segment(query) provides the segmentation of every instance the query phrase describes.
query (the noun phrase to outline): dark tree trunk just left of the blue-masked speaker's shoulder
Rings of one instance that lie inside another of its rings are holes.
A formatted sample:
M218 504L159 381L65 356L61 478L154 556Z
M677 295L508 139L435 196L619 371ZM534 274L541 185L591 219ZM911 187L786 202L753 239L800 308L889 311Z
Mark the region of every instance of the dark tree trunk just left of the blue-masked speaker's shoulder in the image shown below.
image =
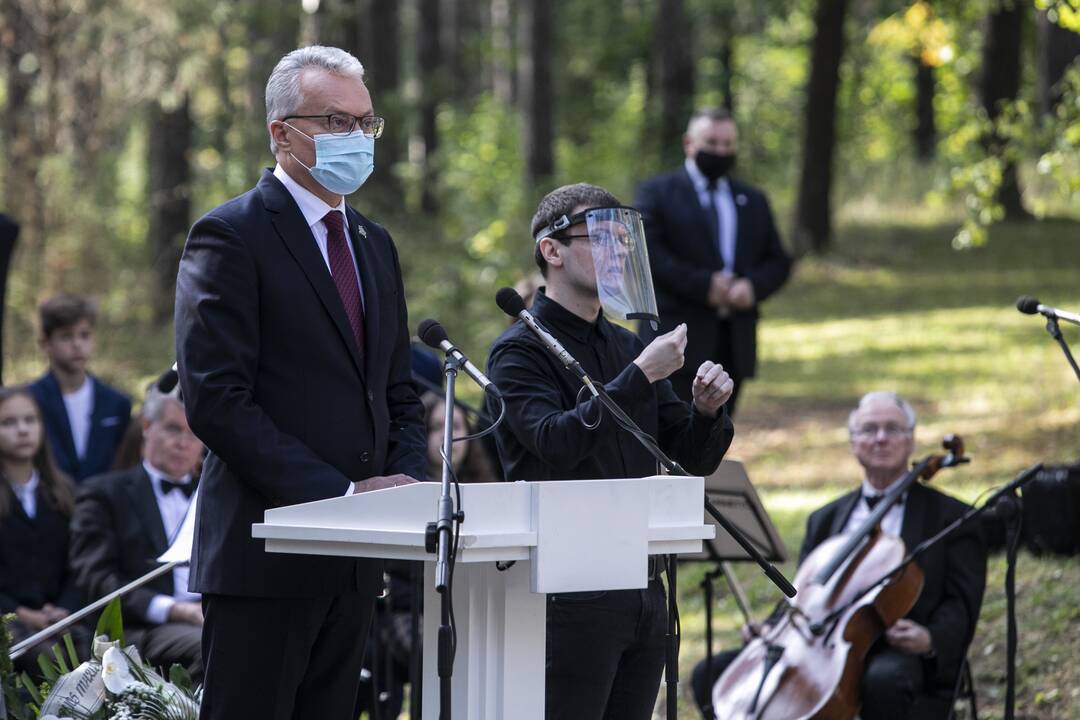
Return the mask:
M149 117L149 247L158 277L153 294L153 317L167 323L173 317L176 270L184 240L191 223L191 148L193 122L188 98L173 109L153 103Z

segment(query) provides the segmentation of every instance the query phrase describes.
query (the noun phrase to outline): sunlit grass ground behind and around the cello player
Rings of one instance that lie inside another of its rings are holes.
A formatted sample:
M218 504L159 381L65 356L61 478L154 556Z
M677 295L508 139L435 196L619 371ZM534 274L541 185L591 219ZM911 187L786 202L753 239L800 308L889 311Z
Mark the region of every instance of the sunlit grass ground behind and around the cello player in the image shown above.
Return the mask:
M914 403L917 457L945 433L964 437L972 463L934 483L968 501L1035 462L1080 459L1080 384L1043 323L1014 308L1020 295L1080 307L1080 226L1001 227L963 253L949 237L945 227L849 225L765 305L764 362L740 402L729 457L746 464L793 553L807 515L860 477L845 423L869 390ZM1064 330L1080 351L1080 331ZM794 574L793 562L782 569ZM703 572L680 573L684 680L704 654ZM764 616L778 592L756 568L737 572ZM991 556L970 652L980 717L991 719L1004 697L1003 580L1004 559ZM1016 585L1016 717L1080 719L1080 560L1024 553ZM715 611L718 644L731 648L742 619L728 597ZM684 697L679 718L696 717Z

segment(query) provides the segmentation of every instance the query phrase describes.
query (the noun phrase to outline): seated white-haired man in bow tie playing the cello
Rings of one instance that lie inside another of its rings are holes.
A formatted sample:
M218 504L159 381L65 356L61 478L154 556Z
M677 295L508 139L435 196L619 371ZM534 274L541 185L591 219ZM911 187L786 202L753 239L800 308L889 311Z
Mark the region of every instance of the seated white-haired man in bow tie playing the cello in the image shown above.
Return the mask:
M915 447L915 410L895 393L867 393L848 418L848 433L851 452L863 467L862 481L810 515L799 562L828 538L854 531L901 481ZM881 531L899 535L910 551L968 510L959 500L916 483L881 518ZM924 575L918 601L886 630L867 657L863 720L912 718L920 694L950 692L974 635L986 587L986 549L978 531L961 529L917 562ZM713 678L704 677L704 663L694 669L694 697L705 718L712 717L716 679L735 654L714 658Z

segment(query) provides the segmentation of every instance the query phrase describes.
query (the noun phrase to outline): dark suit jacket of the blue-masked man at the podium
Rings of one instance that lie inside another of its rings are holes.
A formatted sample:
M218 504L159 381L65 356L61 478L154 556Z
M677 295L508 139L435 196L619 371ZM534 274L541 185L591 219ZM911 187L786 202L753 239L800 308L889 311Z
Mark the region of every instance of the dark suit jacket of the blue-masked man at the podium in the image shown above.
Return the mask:
M364 296L363 355L315 240L266 172L188 235L176 357L203 466L191 589L255 597L376 593L381 565L272 554L267 508L341 497L351 481L424 477L423 406L410 378L397 252L348 209Z

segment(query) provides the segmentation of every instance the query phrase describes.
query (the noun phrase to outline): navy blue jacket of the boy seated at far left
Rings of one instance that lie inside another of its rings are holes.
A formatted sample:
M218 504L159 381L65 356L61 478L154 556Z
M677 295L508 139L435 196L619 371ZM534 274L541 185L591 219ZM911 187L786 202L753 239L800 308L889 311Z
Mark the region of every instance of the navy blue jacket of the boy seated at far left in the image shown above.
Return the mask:
M82 460L76 453L71 423L64 405L59 382L52 372L46 372L29 385L49 434L49 445L56 464L76 483L91 475L100 475L112 470L117 448L124 437L132 417L132 402L112 388L91 378L94 383L94 410L90 417L90 437L86 438L86 457Z

